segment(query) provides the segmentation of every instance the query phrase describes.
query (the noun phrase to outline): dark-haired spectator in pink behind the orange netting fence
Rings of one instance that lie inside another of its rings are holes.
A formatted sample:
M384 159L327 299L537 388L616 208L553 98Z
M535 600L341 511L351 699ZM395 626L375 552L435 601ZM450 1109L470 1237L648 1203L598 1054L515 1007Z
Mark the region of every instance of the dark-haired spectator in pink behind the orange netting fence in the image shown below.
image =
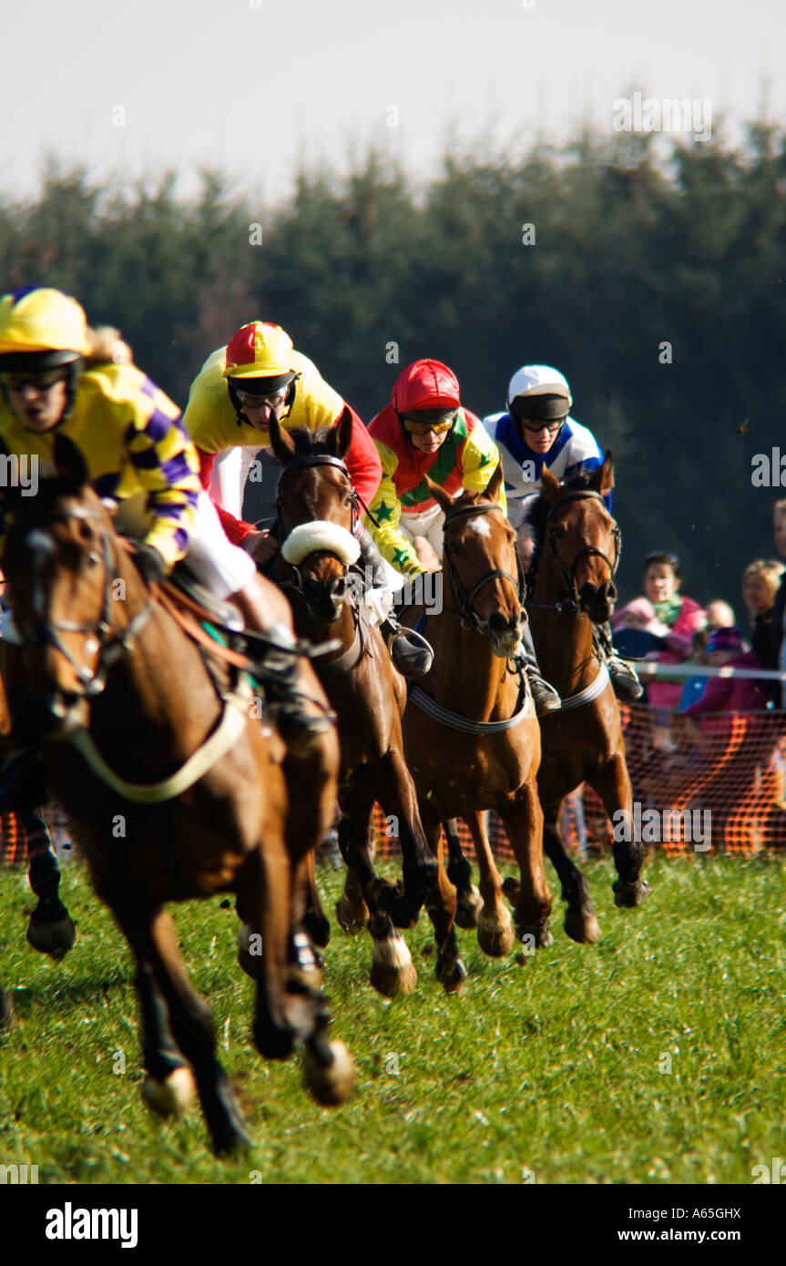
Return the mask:
M706 624L699 603L680 594L681 584L682 568L676 555L652 553L644 560L647 596L628 603L611 618L611 627L618 632L635 629L649 633L653 644L638 653L647 653L658 663L682 663L690 658L692 637ZM637 652L629 649L628 653ZM656 708L678 708L681 695L681 681L657 679L647 686L648 701Z

